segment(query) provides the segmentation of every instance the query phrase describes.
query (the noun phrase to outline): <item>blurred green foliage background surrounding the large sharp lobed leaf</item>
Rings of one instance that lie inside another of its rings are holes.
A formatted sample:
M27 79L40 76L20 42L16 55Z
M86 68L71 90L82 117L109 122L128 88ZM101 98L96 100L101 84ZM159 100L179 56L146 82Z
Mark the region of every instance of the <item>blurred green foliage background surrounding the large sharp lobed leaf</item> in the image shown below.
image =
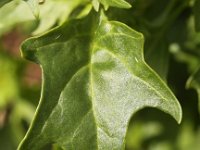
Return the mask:
M197 6L200 2L128 2L132 4L131 9L109 8L106 14L110 20L124 22L144 34L145 59L180 100L183 121L177 125L168 115L146 108L130 121L126 149L199 150L198 95L185 87L188 82L188 87L196 88L198 93L200 90L197 71L200 67L200 33L197 32L200 19L195 20L200 16L200 6ZM76 0L76 3L48 0L39 6L37 19L29 6L20 0L13 0L0 9L0 150L16 149L39 100L40 70L19 57L19 44L13 41L22 41L62 24L77 12L84 11L83 4L89 5L88 0ZM54 145L53 149L59 147Z

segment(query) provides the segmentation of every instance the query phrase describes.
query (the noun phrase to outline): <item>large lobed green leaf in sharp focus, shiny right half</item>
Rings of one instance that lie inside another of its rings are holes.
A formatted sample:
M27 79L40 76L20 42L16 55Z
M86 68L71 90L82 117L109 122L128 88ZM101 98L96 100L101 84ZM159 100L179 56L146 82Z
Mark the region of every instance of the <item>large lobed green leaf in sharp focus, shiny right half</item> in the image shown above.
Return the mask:
M95 12L27 40L22 54L42 66L43 85L19 150L52 143L67 150L124 149L129 120L144 107L180 123L181 107L145 63L143 43L141 33Z

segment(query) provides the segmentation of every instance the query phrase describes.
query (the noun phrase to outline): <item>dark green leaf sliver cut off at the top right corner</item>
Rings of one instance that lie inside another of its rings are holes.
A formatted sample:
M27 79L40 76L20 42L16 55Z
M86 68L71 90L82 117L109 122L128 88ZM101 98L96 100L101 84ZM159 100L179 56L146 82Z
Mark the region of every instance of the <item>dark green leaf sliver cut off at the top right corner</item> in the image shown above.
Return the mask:
M195 29L196 31L200 31L200 0L195 0L194 4L194 17L195 17Z

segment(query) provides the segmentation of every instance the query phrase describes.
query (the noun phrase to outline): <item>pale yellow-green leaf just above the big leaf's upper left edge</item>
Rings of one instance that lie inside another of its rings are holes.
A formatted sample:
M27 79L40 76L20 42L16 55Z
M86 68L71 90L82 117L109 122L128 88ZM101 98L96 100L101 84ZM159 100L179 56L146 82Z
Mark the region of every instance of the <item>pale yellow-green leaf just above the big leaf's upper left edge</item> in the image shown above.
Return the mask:
M79 5L85 4L87 0L48 0L40 6L40 22L34 34L40 34L54 25L64 23L70 13Z

